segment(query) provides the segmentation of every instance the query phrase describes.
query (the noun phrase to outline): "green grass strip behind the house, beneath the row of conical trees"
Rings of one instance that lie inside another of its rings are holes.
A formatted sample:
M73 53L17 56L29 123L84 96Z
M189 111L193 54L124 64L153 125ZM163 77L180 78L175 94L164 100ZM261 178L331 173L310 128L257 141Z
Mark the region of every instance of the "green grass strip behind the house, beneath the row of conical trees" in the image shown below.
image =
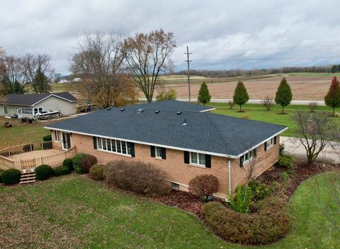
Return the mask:
M272 124L278 124L278 125L285 125L288 127L288 130L283 132L283 136L287 137L295 137L297 125L295 125L293 121L293 115L296 110L303 110L303 111L309 111L309 108L306 105L288 105L285 107L285 113L286 115L279 114L281 112L281 107L279 105L273 106L273 108L270 111L267 111L265 108L263 108L262 105L259 104L246 104L242 105L242 110L244 112L238 112L239 106L234 105L234 108L232 110L229 109L229 105L227 103L208 103L209 106L213 106L216 108L214 110L214 113L222 114L222 115L229 115L233 117L244 117L249 118L250 120L257 120L262 122L268 122ZM331 114L332 110L331 108L327 106L319 106L317 108L317 111L325 111L329 112ZM336 122L340 125L340 118L335 118Z

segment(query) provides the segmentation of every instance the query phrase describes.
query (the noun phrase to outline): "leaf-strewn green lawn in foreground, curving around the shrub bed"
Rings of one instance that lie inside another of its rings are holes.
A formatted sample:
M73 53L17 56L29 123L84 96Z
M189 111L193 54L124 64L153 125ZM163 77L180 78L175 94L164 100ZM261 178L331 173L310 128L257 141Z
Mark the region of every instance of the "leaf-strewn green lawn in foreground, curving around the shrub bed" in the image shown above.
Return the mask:
M324 177L317 176L322 192ZM307 180L291 199L294 219L288 236L266 248L339 245L340 234L329 234L327 219L319 213L313 184ZM79 175L0 187L0 199L0 248L246 248L215 237L187 212Z

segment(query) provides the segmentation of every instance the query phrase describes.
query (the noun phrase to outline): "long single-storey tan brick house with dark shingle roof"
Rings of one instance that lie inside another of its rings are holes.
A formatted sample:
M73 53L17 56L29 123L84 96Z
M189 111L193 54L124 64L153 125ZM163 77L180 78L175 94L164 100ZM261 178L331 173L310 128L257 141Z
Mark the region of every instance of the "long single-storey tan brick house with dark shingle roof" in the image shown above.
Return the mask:
M47 125L55 149L76 147L99 163L125 159L152 163L174 188L188 190L202 174L220 180L219 197L245 182L255 148L263 158L254 175L278 160L279 134L287 127L212 114L203 105L176 100L108 108Z

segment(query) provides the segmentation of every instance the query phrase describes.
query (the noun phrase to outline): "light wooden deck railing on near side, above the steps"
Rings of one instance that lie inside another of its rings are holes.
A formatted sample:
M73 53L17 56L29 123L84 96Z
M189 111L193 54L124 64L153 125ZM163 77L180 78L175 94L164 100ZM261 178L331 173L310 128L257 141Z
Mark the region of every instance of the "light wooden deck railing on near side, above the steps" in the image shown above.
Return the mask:
M66 158L72 158L76 154L76 148L72 147L68 151L62 151L58 154L50 156L41 156L39 158L32 158L26 160L13 160L0 156L0 168L6 170L8 168L16 168L18 170L30 170L36 168L42 164L47 164L51 167L61 166L62 162Z

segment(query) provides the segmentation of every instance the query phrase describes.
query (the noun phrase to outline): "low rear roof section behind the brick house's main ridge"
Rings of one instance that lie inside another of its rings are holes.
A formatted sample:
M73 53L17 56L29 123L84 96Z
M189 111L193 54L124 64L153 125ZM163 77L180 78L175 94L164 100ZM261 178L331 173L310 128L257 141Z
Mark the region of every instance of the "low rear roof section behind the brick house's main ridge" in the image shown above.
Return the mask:
M210 106L197 105L193 103L178 101L178 100L166 100L166 101L156 101L152 103L141 103L138 105L130 105L127 108L143 108L150 110L176 110L176 111L189 111L189 112L204 112L207 110L213 110Z

